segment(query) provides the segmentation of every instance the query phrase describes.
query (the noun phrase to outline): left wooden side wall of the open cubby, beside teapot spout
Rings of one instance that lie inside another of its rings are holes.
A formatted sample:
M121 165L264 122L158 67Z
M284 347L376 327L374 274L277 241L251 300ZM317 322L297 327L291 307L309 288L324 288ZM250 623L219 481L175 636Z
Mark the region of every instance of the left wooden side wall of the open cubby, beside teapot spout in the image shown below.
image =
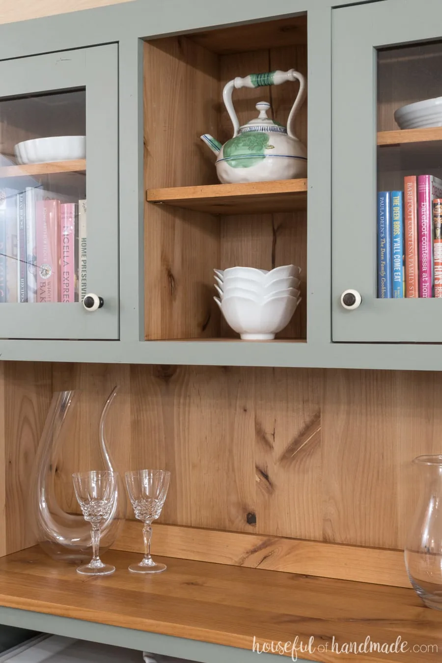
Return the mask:
M199 135L217 131L217 79L217 56L186 37L144 44L145 188L216 182ZM209 284L219 264L218 219L144 205L145 338L217 335Z

